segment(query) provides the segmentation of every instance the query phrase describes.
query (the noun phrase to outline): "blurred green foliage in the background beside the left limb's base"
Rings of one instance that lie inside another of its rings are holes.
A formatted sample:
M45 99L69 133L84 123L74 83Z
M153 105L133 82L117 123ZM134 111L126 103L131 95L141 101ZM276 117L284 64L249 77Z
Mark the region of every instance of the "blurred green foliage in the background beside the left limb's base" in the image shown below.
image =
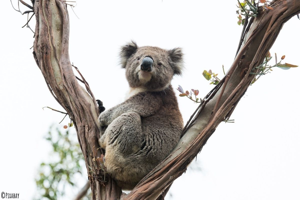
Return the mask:
M85 178L87 180L87 176L82 174L86 170L85 161L76 133L71 133L70 130L61 132L58 128L52 131L50 128L46 140L51 144L52 150L45 158L47 162L42 162L38 170L35 179L37 185L35 199L66 199L66 191L76 196L81 189L78 188L76 181ZM89 198L86 196L83 199Z

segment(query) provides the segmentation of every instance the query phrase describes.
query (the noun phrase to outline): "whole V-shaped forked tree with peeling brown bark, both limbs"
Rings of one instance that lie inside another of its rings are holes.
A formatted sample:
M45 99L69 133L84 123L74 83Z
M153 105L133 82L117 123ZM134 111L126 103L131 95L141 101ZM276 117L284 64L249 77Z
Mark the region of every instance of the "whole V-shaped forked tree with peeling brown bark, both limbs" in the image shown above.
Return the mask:
M183 131L177 147L122 199L161 199L172 182L182 175L201 151L217 125L228 118L255 75L251 70L262 63L283 24L300 12L299 0L274 0L273 10L265 10L253 20L244 43L226 76L203 99ZM69 59L69 16L67 4L60 0L35 0L34 58L53 97L70 115L85 157L93 199L120 199L122 190L107 178L97 159L98 106L88 83L86 90L73 73ZM250 23L249 23L250 24Z

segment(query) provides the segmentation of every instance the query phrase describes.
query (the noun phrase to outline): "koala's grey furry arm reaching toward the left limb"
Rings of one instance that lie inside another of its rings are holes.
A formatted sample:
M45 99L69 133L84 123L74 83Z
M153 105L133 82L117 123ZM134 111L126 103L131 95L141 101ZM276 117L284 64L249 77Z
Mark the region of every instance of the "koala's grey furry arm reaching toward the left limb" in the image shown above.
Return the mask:
M151 93L140 93L123 103L114 106L99 115L101 126L109 125L114 119L126 112L137 112L142 117L147 117L156 113L162 106L162 98Z

